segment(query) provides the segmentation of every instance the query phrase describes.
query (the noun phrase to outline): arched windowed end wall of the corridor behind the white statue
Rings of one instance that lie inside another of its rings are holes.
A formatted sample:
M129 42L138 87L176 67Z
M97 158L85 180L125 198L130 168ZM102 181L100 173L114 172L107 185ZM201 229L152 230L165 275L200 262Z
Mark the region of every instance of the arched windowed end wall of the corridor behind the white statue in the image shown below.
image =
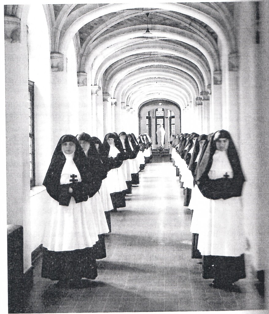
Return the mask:
M167 99L152 99L141 104L138 110L139 134L148 133L152 149L157 149L157 126L165 129L164 149L169 149L171 133L181 133L181 109L178 104Z

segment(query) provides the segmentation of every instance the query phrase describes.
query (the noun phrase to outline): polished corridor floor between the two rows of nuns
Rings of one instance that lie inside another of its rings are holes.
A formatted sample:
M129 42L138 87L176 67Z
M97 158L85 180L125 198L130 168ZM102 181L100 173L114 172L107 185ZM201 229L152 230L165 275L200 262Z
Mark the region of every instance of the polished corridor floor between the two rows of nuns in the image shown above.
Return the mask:
M167 160L167 159L165 159ZM161 161L161 160L159 160ZM154 162L140 173L126 207L111 214L107 258L84 289L60 289L35 269L27 313L258 310L263 299L253 278L238 292L209 287L200 260L191 259L191 215L183 206L176 169Z

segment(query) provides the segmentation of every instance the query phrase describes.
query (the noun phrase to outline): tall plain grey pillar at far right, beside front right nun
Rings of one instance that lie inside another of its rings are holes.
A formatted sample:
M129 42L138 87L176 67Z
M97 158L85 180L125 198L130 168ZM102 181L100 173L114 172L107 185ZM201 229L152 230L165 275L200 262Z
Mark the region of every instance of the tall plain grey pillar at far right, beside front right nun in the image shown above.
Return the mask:
M255 3L236 3L235 10L239 23L238 46L240 55L239 152L246 179L242 193L242 217L244 218L243 223L249 241L249 249L245 257L247 273L250 277L251 268L254 268L256 271L263 269L264 249L267 248L267 244L261 232L264 226L265 211L267 217L267 206L264 208L265 203L261 203L266 202L261 189L262 186L266 184L268 190L268 178L266 178L266 182L262 182L262 172L266 167L264 167L264 162L261 161L261 152L263 149L261 149L259 144L264 144L267 140L264 138L265 134L263 134L261 138L259 133L262 125L259 119L262 113L259 112L260 74L258 69L259 47L256 44L256 32L254 27L256 16ZM266 76L267 75L268 74L266 74Z

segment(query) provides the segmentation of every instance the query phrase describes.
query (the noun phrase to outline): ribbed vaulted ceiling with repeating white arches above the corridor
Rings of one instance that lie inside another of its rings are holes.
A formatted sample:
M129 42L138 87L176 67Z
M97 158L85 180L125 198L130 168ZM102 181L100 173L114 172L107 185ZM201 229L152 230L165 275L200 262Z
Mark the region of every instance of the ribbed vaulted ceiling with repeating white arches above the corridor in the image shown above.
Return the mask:
M65 53L73 39L78 72L134 108L153 98L183 108L194 103L210 92L214 73L221 83L227 55L237 51L231 2L54 4L53 10L54 51Z

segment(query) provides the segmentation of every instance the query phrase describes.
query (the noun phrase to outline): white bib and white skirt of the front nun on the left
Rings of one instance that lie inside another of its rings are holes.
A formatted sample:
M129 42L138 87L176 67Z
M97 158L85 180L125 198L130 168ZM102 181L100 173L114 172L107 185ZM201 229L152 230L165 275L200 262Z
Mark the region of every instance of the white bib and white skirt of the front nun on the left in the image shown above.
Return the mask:
M66 163L61 173L61 184L70 183L70 175L81 176L73 161L73 154L66 156ZM42 244L50 251L72 251L92 247L98 241L98 228L95 224L94 208L89 203L76 203L71 197L69 206L59 205L50 198L45 213Z

